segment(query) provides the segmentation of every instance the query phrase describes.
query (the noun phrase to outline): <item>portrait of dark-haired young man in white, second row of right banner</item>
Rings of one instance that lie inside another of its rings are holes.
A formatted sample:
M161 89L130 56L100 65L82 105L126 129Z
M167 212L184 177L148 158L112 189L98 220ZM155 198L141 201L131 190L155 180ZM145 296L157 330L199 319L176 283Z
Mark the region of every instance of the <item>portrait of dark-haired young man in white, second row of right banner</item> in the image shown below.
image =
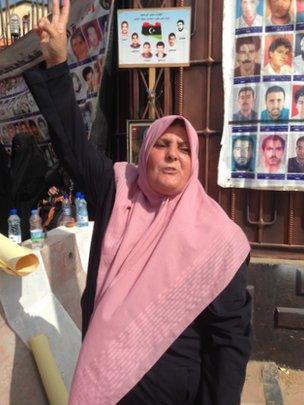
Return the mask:
M290 75L292 46L286 37L274 37L268 48L264 75Z

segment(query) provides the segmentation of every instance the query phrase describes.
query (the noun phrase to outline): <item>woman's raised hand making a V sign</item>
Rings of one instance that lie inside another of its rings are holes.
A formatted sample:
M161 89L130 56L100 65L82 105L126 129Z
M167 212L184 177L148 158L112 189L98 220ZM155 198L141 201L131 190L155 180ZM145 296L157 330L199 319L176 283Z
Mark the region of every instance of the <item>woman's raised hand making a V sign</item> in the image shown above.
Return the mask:
M70 0L63 1L59 8L59 0L53 0L52 21L42 17L35 28L39 35L41 51L46 61L46 66L52 67L67 59L66 26L69 19Z

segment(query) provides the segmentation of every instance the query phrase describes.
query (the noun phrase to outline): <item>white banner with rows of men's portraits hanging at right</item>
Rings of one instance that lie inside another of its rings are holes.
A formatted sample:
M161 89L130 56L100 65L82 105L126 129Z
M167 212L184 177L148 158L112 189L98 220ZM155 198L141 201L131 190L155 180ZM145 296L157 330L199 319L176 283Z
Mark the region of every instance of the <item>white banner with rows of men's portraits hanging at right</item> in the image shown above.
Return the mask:
M218 184L304 190L304 2L226 0L224 7Z

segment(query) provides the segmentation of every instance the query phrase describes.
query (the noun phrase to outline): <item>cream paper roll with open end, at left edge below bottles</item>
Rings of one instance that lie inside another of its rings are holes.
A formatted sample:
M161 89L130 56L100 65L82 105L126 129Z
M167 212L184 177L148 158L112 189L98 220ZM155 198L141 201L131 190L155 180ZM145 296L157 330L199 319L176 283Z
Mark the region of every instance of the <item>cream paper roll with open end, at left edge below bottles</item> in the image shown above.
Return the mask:
M0 268L14 276L26 276L37 270L38 257L30 250L0 233Z

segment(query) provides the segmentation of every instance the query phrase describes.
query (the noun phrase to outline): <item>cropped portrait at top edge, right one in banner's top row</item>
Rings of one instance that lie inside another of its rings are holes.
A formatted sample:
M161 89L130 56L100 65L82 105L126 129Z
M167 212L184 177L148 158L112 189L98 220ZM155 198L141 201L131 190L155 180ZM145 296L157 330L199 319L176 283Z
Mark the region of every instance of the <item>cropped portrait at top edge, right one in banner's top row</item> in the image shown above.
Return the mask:
M265 25L292 24L292 0L268 0L269 13Z

